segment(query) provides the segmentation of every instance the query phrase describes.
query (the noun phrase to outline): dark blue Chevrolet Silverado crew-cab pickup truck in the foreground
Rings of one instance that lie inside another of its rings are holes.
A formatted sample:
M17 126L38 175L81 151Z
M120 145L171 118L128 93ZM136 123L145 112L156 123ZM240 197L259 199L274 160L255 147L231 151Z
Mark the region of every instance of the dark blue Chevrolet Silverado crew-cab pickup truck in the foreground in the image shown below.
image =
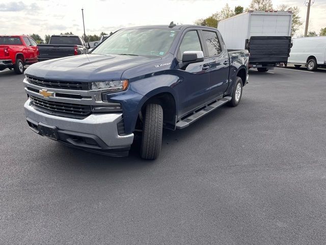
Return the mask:
M26 119L40 135L111 156L127 156L141 132L141 157L155 159L162 128L239 104L248 60L248 51L228 52L214 28L121 29L90 54L28 67Z

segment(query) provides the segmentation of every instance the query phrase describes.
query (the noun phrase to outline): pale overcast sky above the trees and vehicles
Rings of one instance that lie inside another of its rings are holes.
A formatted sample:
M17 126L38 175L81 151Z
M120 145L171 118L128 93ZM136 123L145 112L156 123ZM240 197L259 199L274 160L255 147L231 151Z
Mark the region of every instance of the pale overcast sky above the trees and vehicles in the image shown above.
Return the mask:
M304 0L272 0L274 8L289 4L301 8L306 18ZM123 27L148 24L193 24L220 11L226 3L234 9L248 7L250 0L0 0L0 35L73 32L83 34L82 7L86 34L110 33ZM309 30L319 33L326 27L326 0L315 0L310 12ZM305 25L297 32L304 32Z

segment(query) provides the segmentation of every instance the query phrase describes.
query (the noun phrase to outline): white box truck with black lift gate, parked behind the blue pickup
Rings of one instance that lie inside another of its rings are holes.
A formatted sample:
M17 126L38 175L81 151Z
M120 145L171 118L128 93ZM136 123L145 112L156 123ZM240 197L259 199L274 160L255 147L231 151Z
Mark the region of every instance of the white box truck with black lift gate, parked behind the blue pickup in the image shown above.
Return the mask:
M221 20L218 29L228 50L248 50L249 66L264 72L287 64L292 16L292 12L249 11Z

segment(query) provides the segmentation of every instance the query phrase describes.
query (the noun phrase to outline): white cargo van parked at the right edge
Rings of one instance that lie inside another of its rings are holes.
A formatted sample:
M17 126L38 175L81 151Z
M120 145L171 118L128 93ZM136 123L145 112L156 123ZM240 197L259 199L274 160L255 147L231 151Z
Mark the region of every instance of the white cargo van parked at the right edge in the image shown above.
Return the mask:
M288 63L295 67L306 65L308 70L326 66L326 36L293 39Z

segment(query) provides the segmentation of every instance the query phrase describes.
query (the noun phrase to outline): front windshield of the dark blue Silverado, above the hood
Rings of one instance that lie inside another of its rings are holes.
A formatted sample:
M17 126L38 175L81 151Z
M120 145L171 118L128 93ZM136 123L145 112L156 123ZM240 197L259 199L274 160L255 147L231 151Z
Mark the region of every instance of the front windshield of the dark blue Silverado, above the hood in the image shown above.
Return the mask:
M106 38L92 54L164 56L177 32L165 29L121 30Z

